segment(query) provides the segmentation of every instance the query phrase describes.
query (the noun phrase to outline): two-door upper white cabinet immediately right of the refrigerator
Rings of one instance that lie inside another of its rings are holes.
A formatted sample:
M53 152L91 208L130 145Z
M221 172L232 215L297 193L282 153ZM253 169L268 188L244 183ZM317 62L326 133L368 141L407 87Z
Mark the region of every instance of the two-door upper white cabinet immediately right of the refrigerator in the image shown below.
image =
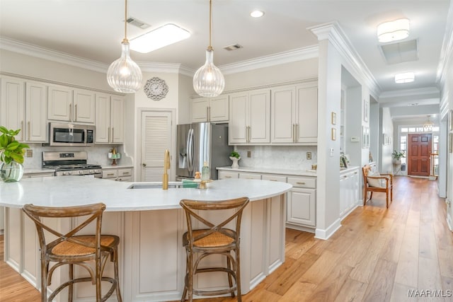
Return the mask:
M232 93L229 144L270 143L270 90Z

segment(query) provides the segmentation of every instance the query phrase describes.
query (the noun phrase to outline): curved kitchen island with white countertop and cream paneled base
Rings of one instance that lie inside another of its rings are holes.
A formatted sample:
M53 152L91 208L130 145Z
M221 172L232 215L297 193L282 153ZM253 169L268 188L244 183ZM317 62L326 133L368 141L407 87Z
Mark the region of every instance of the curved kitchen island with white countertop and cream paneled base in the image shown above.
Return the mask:
M141 182L139 185L152 185ZM112 182L84 176L30 178L0 183L5 209L4 260L31 284L40 284L39 248L35 226L24 216L23 204L64 207L103 202L103 233L120 236L120 282L124 301L175 301L183 290L185 232L180 199L221 200L246 196L241 228L241 285L253 289L285 261L286 192L291 185L268 180L216 180L206 190L137 188L131 182ZM60 221L62 231L70 221ZM107 272L111 274L111 267ZM67 273L55 274L55 284ZM197 286L224 284L224 276L197 279ZM55 288L55 284L50 289ZM91 286L78 284L77 300L93 296ZM61 297L62 301L64 296ZM113 298L115 301L115 298Z

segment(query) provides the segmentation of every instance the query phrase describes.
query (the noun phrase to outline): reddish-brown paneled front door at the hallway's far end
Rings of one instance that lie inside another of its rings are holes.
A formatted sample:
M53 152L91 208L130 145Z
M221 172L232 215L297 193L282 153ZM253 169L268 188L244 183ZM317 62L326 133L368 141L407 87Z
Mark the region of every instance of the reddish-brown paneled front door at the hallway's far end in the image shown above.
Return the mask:
M408 134L408 175L430 175L431 148L431 134Z

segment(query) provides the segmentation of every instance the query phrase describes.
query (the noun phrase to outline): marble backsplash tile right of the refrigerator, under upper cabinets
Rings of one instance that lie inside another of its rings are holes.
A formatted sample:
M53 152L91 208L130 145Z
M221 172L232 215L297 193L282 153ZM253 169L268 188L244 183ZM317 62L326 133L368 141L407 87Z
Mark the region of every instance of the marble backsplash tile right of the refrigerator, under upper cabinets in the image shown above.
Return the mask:
M236 146L239 166L254 168L311 169L316 163L316 146ZM251 151L251 157L247 157ZM306 153L311 152L311 159Z

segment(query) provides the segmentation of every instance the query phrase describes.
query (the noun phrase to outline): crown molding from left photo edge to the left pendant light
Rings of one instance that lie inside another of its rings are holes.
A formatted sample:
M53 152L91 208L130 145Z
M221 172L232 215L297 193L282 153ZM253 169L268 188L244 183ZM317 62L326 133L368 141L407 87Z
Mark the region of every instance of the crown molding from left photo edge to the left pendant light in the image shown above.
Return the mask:
M10 52L17 52L19 54L26 54L30 57L38 57L40 59L46 59L52 62L68 64L83 69L98 71L103 74L105 74L108 69L108 66L106 64L100 62L71 56L70 54L64 52L57 52L55 50L50 50L44 47L26 44L16 40L8 39L6 37L0 37L0 49L8 50Z

